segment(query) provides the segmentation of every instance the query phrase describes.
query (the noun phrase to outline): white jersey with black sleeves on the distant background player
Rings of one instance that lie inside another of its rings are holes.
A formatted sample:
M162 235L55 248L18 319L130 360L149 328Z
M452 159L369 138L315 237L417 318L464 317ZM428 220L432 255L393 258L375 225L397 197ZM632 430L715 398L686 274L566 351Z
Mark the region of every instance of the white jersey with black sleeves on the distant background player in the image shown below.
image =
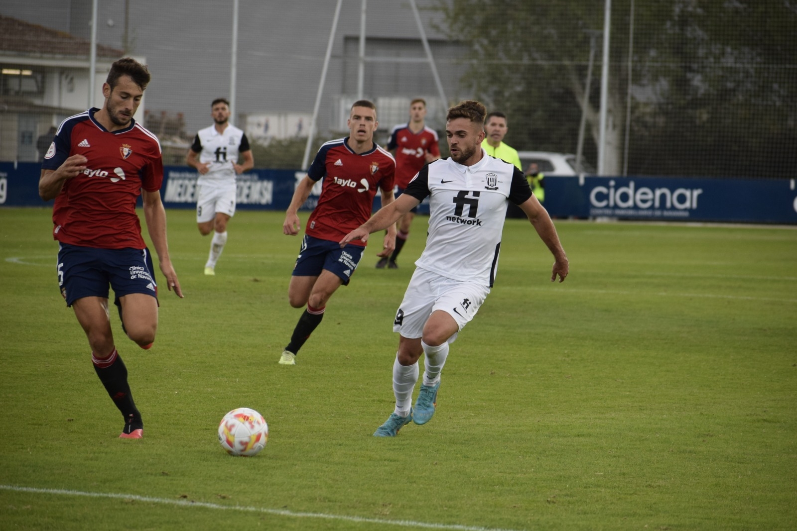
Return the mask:
M200 175L200 185L230 185L235 183L234 163L238 155L249 151L249 140L238 127L227 125L223 133L215 126L200 129L191 145L191 150L199 154L199 162L208 162L209 170Z

